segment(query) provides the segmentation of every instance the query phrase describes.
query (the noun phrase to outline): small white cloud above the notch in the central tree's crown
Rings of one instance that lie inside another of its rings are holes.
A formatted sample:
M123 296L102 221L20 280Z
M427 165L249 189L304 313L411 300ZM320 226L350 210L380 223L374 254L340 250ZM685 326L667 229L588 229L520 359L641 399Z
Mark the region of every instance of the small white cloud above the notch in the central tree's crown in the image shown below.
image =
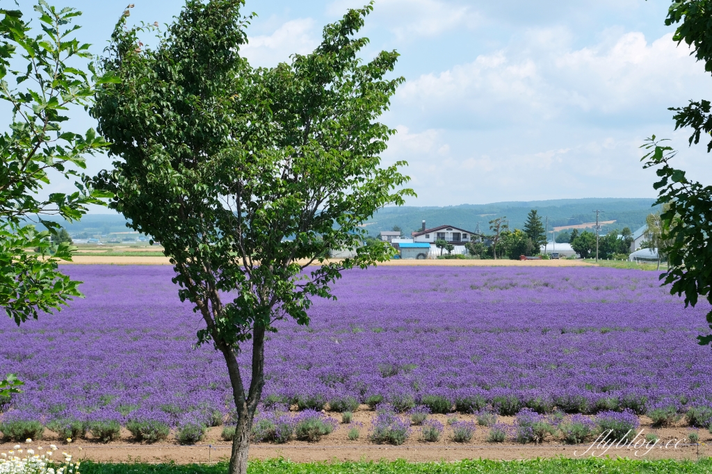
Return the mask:
M287 21L271 35L250 36L240 52L253 66L271 67L289 62L290 55L308 54L319 45L315 25L310 18Z

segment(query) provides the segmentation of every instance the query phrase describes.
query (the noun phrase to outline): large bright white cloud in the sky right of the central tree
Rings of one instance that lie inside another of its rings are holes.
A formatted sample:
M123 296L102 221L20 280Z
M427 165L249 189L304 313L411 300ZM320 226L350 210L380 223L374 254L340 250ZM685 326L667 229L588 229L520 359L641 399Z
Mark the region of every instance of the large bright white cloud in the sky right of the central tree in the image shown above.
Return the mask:
M567 46L567 36L560 30L530 31L523 43L408 81L397 100L483 121L553 120L589 112L641 115L686 102L691 89L703 90L709 80L670 34L648 43L642 33L623 33L577 50Z

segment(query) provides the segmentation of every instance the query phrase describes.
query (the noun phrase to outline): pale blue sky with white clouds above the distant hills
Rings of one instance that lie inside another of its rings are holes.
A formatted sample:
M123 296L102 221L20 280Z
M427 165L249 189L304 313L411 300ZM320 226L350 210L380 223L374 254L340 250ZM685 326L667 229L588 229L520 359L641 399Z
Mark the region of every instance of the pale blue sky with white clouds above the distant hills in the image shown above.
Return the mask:
M183 4L132 2L135 23L169 22ZM28 13L31 3L21 0ZM66 4L84 12L80 37L101 53L127 0ZM242 53L261 66L308 53L326 23L363 4L248 0L246 13L258 16ZM710 98L712 84L686 46L671 40L669 4L377 0L362 31L371 40L364 56L402 55L396 73L406 83L382 117L399 132L383 158L409 162L419 197L408 204L654 196L654 172L639 162L651 134L673 139L691 177L712 181L711 157L701 145L687 147L667 110ZM89 117L76 121L91 126ZM90 171L107 166L93 159ZM59 189L70 186L51 187Z

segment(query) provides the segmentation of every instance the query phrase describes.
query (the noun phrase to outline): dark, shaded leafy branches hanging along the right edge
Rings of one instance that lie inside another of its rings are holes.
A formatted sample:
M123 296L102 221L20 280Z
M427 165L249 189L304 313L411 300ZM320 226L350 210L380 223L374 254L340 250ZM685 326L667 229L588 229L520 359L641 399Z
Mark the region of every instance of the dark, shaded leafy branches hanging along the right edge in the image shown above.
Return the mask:
M712 73L712 0L674 1L665 20L667 26L677 25L673 40L685 42L692 54ZM690 127L689 144L699 143L701 135L712 132L711 102L690 100L685 107L674 110L675 128ZM695 306L699 297L712 304L712 186L689 179L686 172L671 166L675 150L666 146L655 135L642 145L647 150L642 162L644 168L656 167L660 178L653 187L658 191L656 204L668 204L660 214L661 240L669 241L665 251L668 270L664 283L670 293L685 297L685 305ZM707 152L712 150L712 139ZM712 328L712 311L706 316ZM712 335L698 337L700 344L711 344Z

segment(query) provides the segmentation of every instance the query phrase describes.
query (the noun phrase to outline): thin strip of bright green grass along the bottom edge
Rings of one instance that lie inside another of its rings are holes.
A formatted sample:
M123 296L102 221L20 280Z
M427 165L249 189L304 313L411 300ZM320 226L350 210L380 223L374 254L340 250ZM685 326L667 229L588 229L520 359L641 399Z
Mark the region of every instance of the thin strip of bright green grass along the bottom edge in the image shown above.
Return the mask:
M213 465L177 464L103 464L82 463L84 474L222 474L227 472L225 463ZM292 463L276 459L253 461L249 474L464 474L464 473L710 473L712 458L699 461L638 460L638 459L569 459L548 458L525 461L463 460L456 463L408 463L394 462L335 462Z

